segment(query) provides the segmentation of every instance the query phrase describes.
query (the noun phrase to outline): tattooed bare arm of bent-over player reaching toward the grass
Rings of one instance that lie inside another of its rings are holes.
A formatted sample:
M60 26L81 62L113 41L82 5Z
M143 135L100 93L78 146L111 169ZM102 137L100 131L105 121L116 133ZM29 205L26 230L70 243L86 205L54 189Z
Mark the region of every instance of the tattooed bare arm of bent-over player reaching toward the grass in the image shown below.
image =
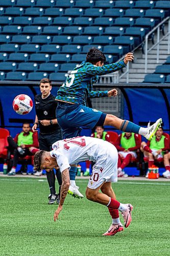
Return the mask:
M58 216L60 214L60 211L63 208L64 200L68 193L69 184L70 184L69 169L67 168L67 169L63 170L63 172L61 173L61 176L62 176L62 185L61 185L61 191L60 191L60 204L59 204L57 210L55 211L54 221L56 221L56 219L58 220Z

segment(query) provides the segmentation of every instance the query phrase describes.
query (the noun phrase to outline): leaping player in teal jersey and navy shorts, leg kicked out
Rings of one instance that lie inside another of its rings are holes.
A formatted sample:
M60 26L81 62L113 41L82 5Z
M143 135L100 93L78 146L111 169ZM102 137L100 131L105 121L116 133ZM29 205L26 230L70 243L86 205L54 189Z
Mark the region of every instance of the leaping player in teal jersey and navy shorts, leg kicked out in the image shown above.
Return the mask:
M151 140L155 135L162 119L158 119L148 128L140 127L128 120L105 114L101 111L90 109L86 106L87 98L111 97L117 95L117 90L92 91L92 84L98 81L98 76L113 73L126 67L128 61L134 59L133 53L125 55L124 60L109 65L104 65L105 55L96 48L91 48L78 67L71 71L66 81L60 87L56 100L57 121L62 128L64 138L79 135L81 127L92 129L94 126L111 125L116 129L143 135ZM70 185L75 186L76 167L70 169Z

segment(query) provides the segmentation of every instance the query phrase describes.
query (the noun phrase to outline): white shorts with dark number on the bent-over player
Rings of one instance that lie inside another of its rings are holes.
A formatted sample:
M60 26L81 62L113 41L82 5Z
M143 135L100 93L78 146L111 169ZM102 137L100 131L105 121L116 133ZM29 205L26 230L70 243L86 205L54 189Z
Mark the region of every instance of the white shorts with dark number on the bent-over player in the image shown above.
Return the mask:
M117 150L115 146L110 144L108 146L108 153L98 157L98 160L93 165L87 187L96 189L103 182L117 182L117 160Z

